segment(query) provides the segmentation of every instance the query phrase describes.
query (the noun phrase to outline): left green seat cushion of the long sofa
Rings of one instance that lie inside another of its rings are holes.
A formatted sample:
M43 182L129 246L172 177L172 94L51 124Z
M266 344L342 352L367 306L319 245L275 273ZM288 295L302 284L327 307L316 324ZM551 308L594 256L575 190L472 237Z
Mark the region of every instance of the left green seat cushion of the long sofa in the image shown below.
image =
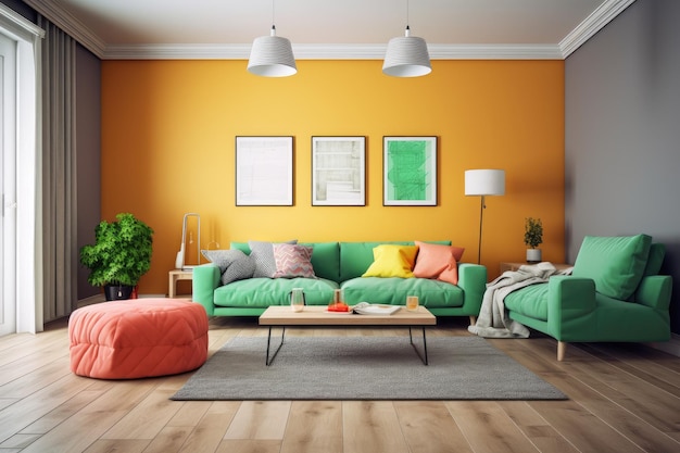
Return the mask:
M338 284L325 278L249 278L215 289L216 306L267 307L290 304L290 291L302 288L307 305L327 305Z

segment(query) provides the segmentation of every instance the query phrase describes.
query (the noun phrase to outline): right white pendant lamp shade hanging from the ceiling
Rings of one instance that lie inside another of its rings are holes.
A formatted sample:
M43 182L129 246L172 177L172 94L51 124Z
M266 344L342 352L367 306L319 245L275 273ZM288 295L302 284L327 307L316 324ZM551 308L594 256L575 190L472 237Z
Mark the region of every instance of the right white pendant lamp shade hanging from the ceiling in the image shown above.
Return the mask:
M392 38L387 45L382 72L394 77L419 77L432 72L425 39L410 36Z

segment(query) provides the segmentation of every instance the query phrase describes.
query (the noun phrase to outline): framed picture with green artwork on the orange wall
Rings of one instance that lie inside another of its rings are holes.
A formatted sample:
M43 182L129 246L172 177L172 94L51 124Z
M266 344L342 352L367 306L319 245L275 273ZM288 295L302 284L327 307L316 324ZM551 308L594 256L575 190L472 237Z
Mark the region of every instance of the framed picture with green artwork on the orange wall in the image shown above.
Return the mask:
M437 205L437 137L383 137L382 204Z

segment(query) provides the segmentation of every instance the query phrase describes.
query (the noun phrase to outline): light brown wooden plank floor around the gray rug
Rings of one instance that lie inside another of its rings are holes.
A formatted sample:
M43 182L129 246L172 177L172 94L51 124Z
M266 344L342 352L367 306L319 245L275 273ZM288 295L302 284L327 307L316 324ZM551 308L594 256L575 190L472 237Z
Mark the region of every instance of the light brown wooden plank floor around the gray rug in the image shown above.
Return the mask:
M429 332L468 335L464 319ZM262 335L256 319L213 319L210 353L232 337ZM0 453L680 452L680 358L642 345L580 344L561 363L551 338L489 341L570 399L175 402L168 398L190 373L130 381L73 375L66 323L58 322L36 336L0 338Z

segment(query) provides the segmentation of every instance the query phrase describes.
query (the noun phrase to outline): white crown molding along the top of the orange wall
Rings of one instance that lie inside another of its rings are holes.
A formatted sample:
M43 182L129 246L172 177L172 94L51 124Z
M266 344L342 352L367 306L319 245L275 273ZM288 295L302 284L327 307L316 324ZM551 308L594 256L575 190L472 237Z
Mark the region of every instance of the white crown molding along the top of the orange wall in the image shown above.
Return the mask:
M251 45L109 46L102 60L248 60ZM557 45L428 45L431 60L562 60ZM293 45L295 60L382 60L386 45Z

